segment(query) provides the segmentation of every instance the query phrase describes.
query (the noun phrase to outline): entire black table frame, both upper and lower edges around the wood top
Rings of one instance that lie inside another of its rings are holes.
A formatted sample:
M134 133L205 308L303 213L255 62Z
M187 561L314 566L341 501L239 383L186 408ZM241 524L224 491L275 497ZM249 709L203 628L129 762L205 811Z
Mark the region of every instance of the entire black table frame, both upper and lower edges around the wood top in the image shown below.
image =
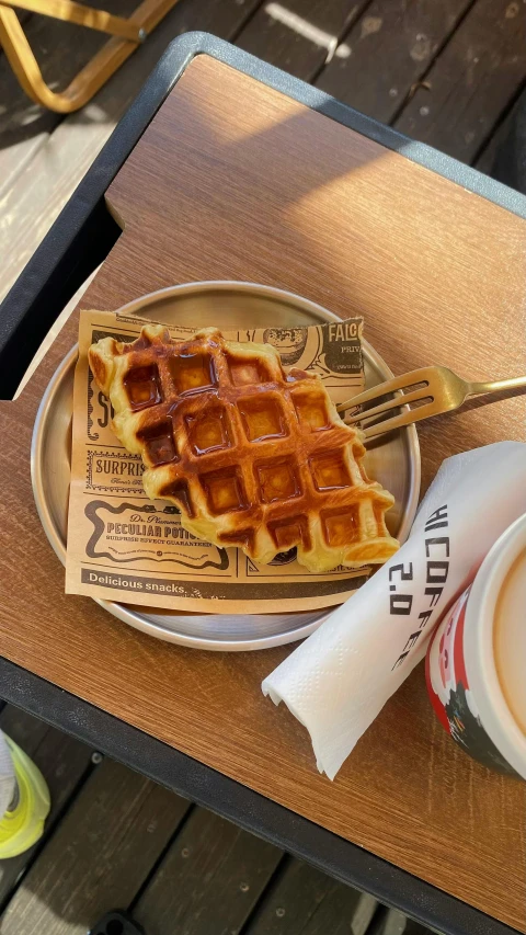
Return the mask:
M55 319L116 241L121 229L106 209L104 194L167 94L199 54L255 78L526 219L526 197L517 192L409 140L222 39L186 33L169 46L2 303L0 398L12 397ZM0 697L444 935L516 932L2 658Z

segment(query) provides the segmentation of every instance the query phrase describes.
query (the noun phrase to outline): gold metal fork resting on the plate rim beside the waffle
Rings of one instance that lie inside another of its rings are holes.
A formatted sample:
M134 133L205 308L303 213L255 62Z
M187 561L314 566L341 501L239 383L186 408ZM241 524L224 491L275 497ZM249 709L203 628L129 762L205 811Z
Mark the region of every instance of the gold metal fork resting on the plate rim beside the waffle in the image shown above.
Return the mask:
M430 415L438 415L458 409L467 399L474 396L485 396L505 389L526 387L526 376L512 377L507 380L495 380L494 383L467 383L447 367L422 367L420 370L411 370L392 380L378 384L371 389L361 392L359 396L347 399L336 406L347 425L361 424L366 438L382 435L392 429L402 425L411 425ZM382 399L389 394L396 394L390 399ZM365 403L379 400L377 406L363 409ZM413 403L414 408L409 408ZM378 420L378 417L396 409L403 411L390 419ZM407 407L407 408L405 408ZM346 410L350 414L343 415ZM359 411L354 411L359 410ZM370 420L374 420L371 424Z

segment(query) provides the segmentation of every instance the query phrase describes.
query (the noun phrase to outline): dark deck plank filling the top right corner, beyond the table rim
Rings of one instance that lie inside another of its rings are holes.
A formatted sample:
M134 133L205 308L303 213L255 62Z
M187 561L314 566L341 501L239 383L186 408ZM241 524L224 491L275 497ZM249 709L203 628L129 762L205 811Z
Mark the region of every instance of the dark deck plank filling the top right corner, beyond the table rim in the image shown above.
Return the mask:
M478 0L395 126L472 162L526 76L526 4Z

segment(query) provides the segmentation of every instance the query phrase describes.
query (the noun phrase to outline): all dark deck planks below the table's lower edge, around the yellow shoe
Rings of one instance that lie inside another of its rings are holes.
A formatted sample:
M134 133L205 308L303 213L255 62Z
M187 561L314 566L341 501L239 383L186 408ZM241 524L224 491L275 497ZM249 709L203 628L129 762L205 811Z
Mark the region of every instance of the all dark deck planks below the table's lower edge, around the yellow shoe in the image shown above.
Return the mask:
M15 860L0 862L0 903L15 889L2 935L84 935L115 908L147 935L431 935L126 767L91 765L89 748L30 715L7 706L0 727L41 766L53 799L18 890L34 850L15 875Z

